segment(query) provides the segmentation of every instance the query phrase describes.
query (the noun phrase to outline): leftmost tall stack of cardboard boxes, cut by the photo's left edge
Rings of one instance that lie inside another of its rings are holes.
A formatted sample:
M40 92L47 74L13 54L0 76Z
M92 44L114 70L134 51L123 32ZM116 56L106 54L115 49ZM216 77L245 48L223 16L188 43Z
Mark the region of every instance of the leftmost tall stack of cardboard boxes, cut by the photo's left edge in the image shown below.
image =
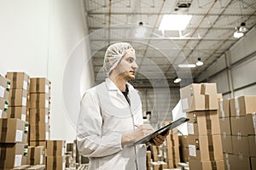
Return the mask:
M28 76L8 72L0 76L0 169L26 165Z

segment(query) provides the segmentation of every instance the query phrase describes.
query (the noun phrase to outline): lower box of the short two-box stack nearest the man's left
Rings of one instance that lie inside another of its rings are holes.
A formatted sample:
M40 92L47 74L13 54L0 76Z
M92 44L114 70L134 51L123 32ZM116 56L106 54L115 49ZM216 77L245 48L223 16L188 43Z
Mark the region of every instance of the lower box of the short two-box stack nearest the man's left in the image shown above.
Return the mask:
M65 169L65 156L46 156L46 169Z

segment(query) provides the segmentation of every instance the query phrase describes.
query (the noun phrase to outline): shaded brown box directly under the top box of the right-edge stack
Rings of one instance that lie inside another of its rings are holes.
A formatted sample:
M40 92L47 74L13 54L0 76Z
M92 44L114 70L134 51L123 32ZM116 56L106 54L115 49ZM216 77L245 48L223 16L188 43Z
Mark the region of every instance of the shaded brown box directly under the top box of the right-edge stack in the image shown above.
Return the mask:
M230 117L231 133L237 136L247 136L246 116Z

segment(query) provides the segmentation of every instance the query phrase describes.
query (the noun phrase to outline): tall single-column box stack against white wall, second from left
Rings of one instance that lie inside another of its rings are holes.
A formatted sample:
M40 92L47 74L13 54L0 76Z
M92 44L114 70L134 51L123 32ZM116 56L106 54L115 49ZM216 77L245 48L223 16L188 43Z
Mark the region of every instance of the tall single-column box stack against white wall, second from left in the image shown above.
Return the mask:
M30 145L44 145L49 139L50 82L46 78L30 80Z

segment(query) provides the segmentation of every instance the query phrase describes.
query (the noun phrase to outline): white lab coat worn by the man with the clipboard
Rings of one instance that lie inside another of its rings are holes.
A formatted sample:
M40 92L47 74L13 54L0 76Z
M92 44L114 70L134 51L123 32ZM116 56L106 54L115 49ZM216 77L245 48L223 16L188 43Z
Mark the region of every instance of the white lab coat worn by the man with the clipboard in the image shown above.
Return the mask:
M115 84L90 88L81 100L77 127L79 152L90 159L90 170L145 170L145 144L122 146L122 134L143 124L142 103L137 90L127 83L131 106Z

